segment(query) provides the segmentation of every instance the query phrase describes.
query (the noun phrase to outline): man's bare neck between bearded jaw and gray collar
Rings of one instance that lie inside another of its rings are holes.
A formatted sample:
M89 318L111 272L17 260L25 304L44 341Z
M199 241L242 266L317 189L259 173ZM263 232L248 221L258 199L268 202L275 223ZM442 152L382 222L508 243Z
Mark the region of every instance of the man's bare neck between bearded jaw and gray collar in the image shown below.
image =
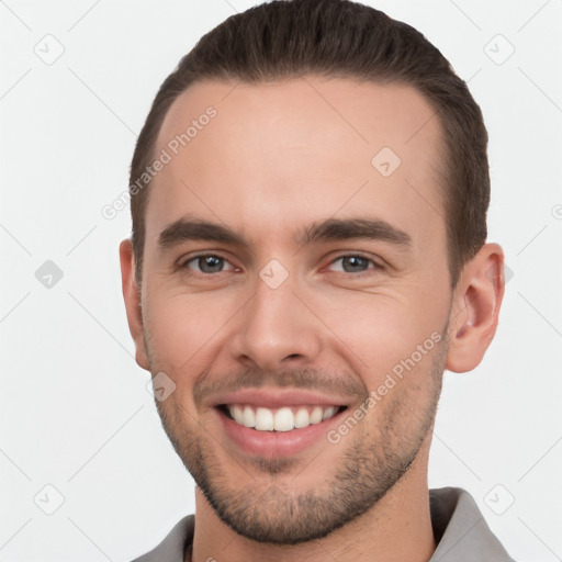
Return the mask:
M403 477L369 512L327 537L293 546L266 544L237 535L195 490L192 562L428 562L436 543L429 513L425 443Z

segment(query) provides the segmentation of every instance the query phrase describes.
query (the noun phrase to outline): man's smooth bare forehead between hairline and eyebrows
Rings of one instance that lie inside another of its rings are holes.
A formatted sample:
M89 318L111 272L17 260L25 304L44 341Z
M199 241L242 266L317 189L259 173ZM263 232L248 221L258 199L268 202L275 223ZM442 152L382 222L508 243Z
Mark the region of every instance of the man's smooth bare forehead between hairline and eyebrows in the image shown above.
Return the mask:
M195 83L158 135L155 156L169 161L150 187L147 239L186 214L249 236L359 212L435 229L442 223L435 117L408 86L314 76Z

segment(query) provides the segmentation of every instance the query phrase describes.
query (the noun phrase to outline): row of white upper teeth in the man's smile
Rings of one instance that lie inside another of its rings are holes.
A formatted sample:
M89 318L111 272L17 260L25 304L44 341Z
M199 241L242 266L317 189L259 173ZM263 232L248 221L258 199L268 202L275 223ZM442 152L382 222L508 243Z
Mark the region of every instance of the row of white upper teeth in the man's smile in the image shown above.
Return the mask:
M228 412L234 420L259 431L290 431L319 424L323 419L334 416L336 406L302 406L269 409L263 407L229 405Z

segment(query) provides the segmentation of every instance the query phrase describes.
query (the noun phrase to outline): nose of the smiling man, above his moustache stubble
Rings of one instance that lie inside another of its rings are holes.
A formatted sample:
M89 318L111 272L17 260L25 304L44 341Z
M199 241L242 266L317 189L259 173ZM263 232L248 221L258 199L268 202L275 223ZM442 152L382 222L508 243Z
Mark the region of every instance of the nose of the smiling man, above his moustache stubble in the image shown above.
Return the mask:
M249 369L279 370L310 366L322 348L322 324L288 280L272 289L261 279L239 311L231 338L233 359Z

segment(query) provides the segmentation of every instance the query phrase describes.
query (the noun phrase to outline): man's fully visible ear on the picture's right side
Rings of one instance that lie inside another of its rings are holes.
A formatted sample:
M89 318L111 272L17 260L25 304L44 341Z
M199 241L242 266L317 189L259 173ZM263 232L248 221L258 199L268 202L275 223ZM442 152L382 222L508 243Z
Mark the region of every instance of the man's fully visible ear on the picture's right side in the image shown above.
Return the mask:
M497 328L504 285L504 252L485 244L465 263L453 291L446 369L467 372L480 364Z

